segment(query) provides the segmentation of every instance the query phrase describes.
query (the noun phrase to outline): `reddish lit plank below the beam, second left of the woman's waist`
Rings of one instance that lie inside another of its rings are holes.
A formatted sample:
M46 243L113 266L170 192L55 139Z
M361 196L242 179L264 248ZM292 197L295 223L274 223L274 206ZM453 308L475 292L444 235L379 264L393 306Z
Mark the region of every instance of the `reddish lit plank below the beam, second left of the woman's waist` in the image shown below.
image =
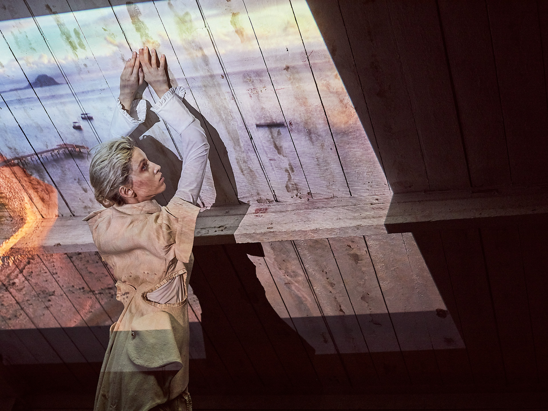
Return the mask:
M39 258L59 284L96 338L106 347L112 319L90 290L66 254L43 254Z

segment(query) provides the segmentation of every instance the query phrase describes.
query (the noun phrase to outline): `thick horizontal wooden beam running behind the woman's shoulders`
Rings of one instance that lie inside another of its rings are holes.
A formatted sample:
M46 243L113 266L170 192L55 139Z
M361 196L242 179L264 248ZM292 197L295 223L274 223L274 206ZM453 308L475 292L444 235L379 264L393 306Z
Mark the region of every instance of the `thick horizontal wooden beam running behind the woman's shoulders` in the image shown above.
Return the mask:
M395 196L241 204L203 210L195 244L350 237L548 221L545 189L403 193ZM95 251L81 217L43 219L8 255Z

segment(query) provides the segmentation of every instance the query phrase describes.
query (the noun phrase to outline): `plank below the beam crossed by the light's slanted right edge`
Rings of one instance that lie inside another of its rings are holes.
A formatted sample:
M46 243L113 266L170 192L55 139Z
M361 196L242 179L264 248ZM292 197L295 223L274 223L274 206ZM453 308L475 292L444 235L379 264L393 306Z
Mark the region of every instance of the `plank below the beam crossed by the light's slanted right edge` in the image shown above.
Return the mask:
M472 372L443 245L438 232L404 233L409 262L425 311L430 340L444 384L465 384Z

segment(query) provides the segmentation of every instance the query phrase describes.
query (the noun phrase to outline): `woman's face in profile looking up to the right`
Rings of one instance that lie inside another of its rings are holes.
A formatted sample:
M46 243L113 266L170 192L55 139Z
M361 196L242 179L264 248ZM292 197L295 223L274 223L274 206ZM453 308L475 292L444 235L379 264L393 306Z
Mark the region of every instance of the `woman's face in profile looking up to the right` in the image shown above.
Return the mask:
M150 200L165 190L165 182L160 172L160 166L149 161L139 147L133 149L131 175L132 187L122 187L120 189L128 204Z

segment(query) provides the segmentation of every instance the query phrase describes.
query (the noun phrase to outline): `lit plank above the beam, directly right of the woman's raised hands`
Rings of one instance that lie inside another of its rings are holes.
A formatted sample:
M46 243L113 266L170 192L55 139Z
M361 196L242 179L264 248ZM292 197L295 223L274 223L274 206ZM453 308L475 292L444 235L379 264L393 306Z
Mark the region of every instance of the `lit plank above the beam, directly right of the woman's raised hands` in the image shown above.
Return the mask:
M207 4L201 5L207 8ZM230 171L229 184L241 201L273 201L267 178L249 138L249 124L243 122L228 73L222 67L218 50L214 49L210 37L212 32L198 5L190 0L177 0L158 2L155 6L174 48L177 63L186 76L192 98L196 99L198 110L208 120L212 150L219 155L218 172L219 166ZM217 24L212 26L218 28Z

